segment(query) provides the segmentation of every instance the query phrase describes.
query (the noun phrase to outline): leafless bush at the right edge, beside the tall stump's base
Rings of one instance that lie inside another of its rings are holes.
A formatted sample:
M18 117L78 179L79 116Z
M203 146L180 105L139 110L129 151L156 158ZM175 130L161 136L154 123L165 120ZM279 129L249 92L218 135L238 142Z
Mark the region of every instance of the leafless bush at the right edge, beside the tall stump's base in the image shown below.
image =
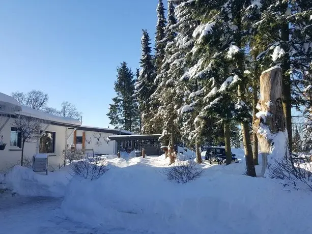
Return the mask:
M312 189L312 165L307 160L278 159L269 167L269 176L273 179L289 181L294 187L302 182Z

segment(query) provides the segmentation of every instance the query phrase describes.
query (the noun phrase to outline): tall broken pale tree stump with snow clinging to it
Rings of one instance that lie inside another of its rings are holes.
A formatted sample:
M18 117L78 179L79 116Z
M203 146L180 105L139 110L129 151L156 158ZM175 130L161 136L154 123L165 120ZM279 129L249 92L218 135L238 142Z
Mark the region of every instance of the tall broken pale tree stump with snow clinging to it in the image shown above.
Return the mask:
M260 101L257 105L259 112L253 122L253 131L257 133L262 153L261 177L264 176L272 160L276 157L284 157L287 152L288 136L281 101L281 84L280 67L272 67L260 76ZM268 162L268 155L270 155L270 162Z

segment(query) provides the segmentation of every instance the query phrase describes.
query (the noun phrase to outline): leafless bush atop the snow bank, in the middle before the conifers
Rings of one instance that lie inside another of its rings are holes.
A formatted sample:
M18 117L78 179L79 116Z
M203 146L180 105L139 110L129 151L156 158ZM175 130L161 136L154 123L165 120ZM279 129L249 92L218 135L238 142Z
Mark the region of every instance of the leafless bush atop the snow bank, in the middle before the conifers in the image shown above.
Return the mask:
M187 183L200 178L204 172L197 166L194 160L178 161L173 166L166 167L162 171L169 181L177 183Z

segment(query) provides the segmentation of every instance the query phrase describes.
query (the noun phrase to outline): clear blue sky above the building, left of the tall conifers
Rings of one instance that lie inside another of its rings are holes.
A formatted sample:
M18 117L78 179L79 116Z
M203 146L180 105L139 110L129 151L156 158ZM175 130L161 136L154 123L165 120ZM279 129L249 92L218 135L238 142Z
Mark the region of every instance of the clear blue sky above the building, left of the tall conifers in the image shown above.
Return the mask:
M109 126L116 67L139 66L141 28L154 39L157 2L3 1L0 92L41 90L48 106L70 101L84 125Z

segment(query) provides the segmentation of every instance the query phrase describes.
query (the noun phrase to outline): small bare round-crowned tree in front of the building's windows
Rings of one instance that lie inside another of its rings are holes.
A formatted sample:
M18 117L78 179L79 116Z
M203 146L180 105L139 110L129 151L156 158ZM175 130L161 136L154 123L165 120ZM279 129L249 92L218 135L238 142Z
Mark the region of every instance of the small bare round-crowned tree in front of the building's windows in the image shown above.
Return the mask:
M21 135L21 166L23 166L24 145L25 142L36 142L40 136L40 122L30 116L17 115L13 123L13 127L17 128Z

